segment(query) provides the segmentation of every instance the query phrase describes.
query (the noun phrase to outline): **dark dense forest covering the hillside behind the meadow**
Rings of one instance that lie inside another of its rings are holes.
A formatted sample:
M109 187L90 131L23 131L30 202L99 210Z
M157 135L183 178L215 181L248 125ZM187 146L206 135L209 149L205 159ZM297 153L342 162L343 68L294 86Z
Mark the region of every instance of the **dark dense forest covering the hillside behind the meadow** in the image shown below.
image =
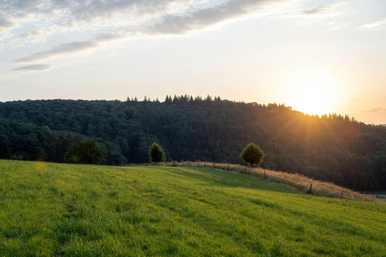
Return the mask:
M386 127L341 115L310 116L278 104L207 96L164 102L26 100L0 102L0 158L65 162L79 138L102 138L108 164L148 161L152 142L167 160L240 163L249 142L269 169L306 174L353 189L386 188Z

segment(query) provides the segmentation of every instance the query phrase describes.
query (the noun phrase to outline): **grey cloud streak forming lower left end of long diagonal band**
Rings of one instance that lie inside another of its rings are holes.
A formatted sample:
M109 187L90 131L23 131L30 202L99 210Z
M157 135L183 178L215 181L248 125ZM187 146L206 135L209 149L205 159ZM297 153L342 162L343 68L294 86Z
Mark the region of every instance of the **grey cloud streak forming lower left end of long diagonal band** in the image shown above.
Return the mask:
M19 58L13 61L13 63L33 63L40 60L50 59L57 56L66 56L76 52L84 51L86 49L94 48L97 43L94 41L82 41L64 43L58 46L52 47L50 50L33 53L30 56Z

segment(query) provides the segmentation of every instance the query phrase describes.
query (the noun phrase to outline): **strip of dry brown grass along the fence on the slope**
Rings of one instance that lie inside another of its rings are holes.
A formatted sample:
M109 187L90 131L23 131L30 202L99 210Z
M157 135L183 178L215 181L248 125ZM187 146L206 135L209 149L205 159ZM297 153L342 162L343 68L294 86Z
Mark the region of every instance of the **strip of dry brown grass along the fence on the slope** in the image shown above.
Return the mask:
M378 200L375 197L369 196L369 195L363 195L361 193L357 193L353 190L343 188L340 186L337 186L330 182L315 180L312 178L309 178L307 176L296 174L296 173L286 173L281 171L274 171L274 170L268 170L265 169L265 175L264 175L264 169L262 168L251 168L246 167L238 164L228 164L228 163L214 163L213 162L193 162L193 161L184 161L184 162L164 162L160 163L158 165L162 166L195 166L195 167L208 167L208 168L215 168L215 169L222 169L225 171L235 171L240 174L246 174L249 176L254 177L260 177L267 179L272 182L277 182L285 185L292 186L303 193L309 193L310 190L310 184L312 184L312 194L314 195L320 195L325 197L333 197L333 198L341 198L342 197L342 191L343 191L343 197L344 199L350 199L350 200L356 200L356 201L369 201L369 202L379 202L384 203L381 200ZM229 169L228 169L229 165ZM285 176L285 181L284 181Z

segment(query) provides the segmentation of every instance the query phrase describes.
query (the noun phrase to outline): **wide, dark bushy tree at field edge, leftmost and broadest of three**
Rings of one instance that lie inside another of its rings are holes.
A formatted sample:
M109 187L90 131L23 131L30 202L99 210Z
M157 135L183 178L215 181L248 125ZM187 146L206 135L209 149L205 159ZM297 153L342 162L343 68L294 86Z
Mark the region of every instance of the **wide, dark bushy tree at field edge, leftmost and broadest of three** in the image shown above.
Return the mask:
M70 152L67 152L65 159L81 164L103 164L105 163L106 152L98 144L101 138L79 139L71 144Z

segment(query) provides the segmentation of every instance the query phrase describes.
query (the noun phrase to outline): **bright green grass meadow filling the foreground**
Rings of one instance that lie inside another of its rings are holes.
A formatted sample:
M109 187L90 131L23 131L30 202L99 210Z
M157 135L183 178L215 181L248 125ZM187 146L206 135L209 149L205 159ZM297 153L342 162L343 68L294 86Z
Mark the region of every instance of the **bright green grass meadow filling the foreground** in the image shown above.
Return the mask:
M0 161L0 256L386 256L386 204L198 167Z

